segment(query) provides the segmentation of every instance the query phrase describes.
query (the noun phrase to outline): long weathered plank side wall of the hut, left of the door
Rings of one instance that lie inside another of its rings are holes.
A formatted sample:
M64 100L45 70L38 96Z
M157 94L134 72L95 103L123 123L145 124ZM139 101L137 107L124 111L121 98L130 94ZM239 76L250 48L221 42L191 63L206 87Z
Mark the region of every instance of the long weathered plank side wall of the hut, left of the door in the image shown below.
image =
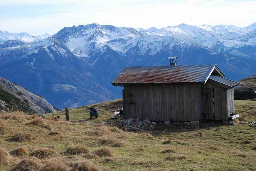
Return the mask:
M146 84L123 92L124 118L201 120L201 84ZM133 97L131 97L133 96Z

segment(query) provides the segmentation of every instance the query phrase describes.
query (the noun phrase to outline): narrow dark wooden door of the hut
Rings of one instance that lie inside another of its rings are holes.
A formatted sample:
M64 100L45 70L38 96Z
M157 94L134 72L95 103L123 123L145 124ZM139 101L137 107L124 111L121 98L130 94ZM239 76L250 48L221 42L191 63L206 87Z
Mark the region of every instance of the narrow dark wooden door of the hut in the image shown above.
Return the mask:
M202 119L214 120L214 89L202 89Z

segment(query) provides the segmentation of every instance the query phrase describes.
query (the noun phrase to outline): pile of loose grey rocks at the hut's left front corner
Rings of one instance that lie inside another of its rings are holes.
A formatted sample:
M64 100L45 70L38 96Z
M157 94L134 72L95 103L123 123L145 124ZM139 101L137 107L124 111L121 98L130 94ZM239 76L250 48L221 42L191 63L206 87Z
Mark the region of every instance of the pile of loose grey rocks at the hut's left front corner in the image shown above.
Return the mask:
M151 128L153 128L154 126L156 126L156 122L151 122L149 120L143 120L141 118L137 118L137 119L122 119L119 120L117 123L118 127L123 127L123 128L127 128L128 130L149 130Z

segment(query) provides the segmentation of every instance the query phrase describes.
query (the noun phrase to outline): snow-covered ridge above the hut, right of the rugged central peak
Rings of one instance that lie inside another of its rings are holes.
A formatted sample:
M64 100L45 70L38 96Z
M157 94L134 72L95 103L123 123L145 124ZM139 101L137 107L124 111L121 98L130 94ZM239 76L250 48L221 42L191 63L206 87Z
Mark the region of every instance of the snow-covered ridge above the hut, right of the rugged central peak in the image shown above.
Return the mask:
M171 36L186 43L197 43L210 48L215 41L237 38L250 31L251 29L249 28L240 28L233 25L190 26L187 24L168 26L161 29L155 27L140 29L140 32L146 35Z

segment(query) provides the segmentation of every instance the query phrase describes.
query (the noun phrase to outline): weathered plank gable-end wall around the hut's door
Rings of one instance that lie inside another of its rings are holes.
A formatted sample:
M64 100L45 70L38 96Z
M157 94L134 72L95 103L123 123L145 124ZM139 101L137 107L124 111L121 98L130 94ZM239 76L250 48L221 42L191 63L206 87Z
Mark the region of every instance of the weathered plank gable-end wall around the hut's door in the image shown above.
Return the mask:
M213 105L214 110L209 116L206 116L205 119L206 120L226 120L227 119L227 89L211 82L206 82L206 84L202 84L202 89L214 89L214 105Z

